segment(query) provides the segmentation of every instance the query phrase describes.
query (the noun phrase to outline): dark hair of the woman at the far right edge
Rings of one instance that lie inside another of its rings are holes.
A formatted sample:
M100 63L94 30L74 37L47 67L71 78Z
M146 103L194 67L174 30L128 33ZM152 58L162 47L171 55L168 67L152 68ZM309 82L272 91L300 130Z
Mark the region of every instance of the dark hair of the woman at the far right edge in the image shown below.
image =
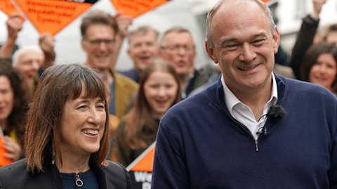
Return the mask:
M310 46L307 52L305 52L305 56L303 57L303 62L300 66L300 79L304 82L309 81L310 70L315 63L317 63L317 58L324 53L329 53L333 56L333 59L337 63L337 47L336 44L331 43L319 43ZM337 77L335 77L335 81L333 82L331 89L336 91Z

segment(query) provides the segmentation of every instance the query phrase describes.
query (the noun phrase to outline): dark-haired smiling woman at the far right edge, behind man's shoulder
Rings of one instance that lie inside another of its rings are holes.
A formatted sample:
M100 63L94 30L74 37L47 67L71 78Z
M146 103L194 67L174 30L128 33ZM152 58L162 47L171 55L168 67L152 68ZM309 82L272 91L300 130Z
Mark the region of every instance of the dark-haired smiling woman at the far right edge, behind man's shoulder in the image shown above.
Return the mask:
M336 95L337 47L331 43L312 45L300 67L301 79L319 84Z

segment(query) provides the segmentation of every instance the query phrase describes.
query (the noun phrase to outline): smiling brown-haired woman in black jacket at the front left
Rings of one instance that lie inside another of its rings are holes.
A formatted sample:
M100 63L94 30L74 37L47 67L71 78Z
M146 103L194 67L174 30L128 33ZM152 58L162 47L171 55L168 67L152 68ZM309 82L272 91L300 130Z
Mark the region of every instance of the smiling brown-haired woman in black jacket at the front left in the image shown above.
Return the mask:
M0 168L3 188L130 188L109 148L107 86L79 65L48 67L27 114L26 159Z

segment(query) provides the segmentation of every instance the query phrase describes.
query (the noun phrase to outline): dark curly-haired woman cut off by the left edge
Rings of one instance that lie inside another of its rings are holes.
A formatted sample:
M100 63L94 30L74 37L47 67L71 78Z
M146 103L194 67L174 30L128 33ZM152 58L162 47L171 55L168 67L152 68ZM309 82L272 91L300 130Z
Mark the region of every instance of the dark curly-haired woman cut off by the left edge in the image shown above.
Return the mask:
M23 119L28 108L28 93L18 70L0 60L0 126L4 132L4 157L16 162L22 158ZM4 165L1 163L1 165Z

